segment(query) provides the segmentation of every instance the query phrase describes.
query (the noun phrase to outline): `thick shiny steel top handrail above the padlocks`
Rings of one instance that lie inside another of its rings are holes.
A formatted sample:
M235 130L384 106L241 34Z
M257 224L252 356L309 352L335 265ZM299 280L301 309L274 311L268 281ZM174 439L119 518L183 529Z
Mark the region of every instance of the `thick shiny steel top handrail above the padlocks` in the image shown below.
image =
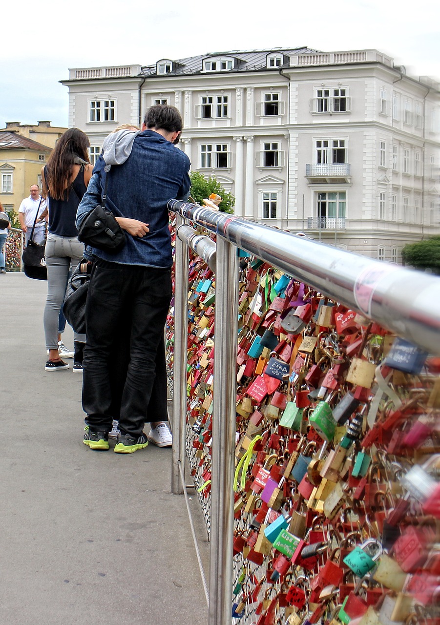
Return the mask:
M169 209L356 309L432 354L440 354L440 280L180 200Z

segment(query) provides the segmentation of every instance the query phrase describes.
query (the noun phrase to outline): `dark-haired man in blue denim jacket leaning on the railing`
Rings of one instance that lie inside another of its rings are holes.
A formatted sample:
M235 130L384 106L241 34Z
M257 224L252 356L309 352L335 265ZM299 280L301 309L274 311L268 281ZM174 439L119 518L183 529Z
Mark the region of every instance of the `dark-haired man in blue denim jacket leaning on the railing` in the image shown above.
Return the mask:
M172 296L167 204L173 197L186 200L191 186L189 159L173 145L182 127L182 118L173 106L151 107L141 133L118 138L117 149L108 159L108 174L103 156L99 157L78 207L77 227L101 204L108 176L106 207L127 235L126 245L116 254L91 249L96 261L86 306L83 363L84 444L91 449L109 449L111 359L115 337L123 330L129 336L129 365L114 451L132 453L148 445L143 432L146 408ZM168 427L163 422L151 426L149 439L163 446L169 437Z

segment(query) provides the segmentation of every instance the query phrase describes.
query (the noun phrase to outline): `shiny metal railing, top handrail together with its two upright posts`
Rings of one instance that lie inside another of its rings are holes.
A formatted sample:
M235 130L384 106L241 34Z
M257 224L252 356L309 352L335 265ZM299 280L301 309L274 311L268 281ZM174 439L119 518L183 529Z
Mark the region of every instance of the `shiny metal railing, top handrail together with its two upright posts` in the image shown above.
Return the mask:
M231 622L233 476L236 431L238 258L236 247L261 258L294 279L369 317L431 354L440 355L440 280L418 271L297 237L289 232L212 209L171 200L178 214L174 298L174 493L184 489L188 247L197 235L184 219L216 234L216 307L211 444L211 564L209 625ZM205 259L212 242L198 244ZM193 247L194 249L194 247ZM199 252L197 252L199 253Z

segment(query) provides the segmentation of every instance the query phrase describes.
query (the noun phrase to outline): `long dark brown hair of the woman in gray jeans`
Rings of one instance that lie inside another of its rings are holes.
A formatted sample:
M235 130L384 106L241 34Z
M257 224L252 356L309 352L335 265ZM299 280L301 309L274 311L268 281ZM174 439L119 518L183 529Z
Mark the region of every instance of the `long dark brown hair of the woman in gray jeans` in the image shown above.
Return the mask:
M75 157L90 163L88 136L78 128L69 128L58 139L46 166L46 186L54 199L66 199L71 186L70 179Z

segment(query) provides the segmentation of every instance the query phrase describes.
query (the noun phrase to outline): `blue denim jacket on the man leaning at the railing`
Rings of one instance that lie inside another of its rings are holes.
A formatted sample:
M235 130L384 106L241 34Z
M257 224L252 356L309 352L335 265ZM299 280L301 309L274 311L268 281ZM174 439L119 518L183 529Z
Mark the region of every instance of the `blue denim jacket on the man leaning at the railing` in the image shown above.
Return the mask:
M116 217L130 217L149 224L143 237L126 232L126 245L117 254L88 248L104 261L148 267L171 267L171 235L168 229L170 199L186 200L191 181L189 158L161 134L145 130L133 142L125 163L112 165L108 174L106 163L99 157L88 189L78 207L76 226L86 214L101 204L106 176L109 176L106 207Z

